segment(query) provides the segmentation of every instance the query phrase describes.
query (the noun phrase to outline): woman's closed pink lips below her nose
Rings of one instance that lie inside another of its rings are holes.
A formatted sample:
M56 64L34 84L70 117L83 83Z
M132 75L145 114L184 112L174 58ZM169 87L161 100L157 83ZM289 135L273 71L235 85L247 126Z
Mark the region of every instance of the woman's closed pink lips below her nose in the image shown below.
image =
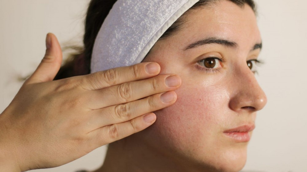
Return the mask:
M242 125L233 129L228 129L223 133L236 142L248 142L251 140L250 132L255 129L255 125Z

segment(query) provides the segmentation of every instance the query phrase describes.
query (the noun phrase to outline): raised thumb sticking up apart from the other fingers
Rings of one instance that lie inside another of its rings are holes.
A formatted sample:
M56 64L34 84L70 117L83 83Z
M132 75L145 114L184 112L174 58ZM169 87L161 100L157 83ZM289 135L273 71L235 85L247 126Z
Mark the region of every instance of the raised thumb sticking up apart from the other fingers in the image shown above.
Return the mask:
M46 54L35 72L25 81L25 84L33 84L51 81L56 76L62 63L62 50L59 41L52 33L46 36Z

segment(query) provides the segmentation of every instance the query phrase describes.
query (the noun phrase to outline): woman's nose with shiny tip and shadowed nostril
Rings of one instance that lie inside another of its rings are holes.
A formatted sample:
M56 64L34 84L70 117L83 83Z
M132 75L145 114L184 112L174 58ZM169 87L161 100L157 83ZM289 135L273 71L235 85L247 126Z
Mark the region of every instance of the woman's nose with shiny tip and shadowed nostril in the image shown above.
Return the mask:
M247 67L237 70L235 82L232 85L229 107L234 111L247 110L255 112L261 110L267 102L263 90L260 88L255 75Z

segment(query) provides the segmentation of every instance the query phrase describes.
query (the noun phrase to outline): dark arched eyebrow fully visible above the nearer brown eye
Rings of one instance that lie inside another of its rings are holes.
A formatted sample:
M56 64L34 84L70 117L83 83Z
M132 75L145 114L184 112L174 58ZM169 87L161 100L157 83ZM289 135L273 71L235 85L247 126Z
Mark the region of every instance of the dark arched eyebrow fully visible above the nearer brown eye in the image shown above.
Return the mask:
M183 50L188 50L188 49L191 49L191 48L196 48L196 47L199 47L199 46L202 46L202 45L206 45L206 44L221 44L221 45L224 45L224 46L230 47L230 48L238 47L238 44L235 43L235 42L228 41L228 40L225 40L225 39L214 38L213 37L213 38L207 38L207 39L202 39L202 40L196 41L196 42L188 45ZM255 47L256 47L256 45L255 45Z

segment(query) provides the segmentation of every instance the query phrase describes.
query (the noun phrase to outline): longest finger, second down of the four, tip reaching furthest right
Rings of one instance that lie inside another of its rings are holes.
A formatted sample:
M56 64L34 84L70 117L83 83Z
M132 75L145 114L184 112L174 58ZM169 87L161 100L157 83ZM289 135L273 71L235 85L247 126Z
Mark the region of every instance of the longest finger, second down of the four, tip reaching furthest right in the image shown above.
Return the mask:
M177 89L181 79L177 75L159 75L146 80L128 82L101 90L88 91L87 107L100 109L112 105L128 103L157 93Z

